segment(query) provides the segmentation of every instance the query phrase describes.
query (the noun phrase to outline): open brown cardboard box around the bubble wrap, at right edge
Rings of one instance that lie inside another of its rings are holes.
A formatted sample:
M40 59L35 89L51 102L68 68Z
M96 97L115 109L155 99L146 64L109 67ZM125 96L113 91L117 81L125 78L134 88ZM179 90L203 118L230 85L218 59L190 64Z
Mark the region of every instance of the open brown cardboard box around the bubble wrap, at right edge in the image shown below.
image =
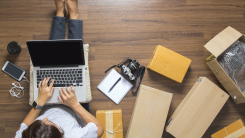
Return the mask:
M245 95L240 91L237 85L232 81L232 79L217 61L219 55L221 55L237 40L245 43L245 36L232 27L228 26L222 32L217 34L213 39L211 39L204 47L213 54L213 56L207 59L207 65L217 77L219 82L231 95L231 98L237 104L239 104L245 103Z

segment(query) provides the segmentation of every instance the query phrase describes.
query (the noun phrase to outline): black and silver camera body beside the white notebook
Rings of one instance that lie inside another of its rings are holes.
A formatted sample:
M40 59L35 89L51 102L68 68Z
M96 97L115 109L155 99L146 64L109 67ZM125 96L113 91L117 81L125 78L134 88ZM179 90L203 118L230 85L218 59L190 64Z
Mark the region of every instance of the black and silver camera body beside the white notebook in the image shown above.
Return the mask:
M122 73L125 76L128 76L129 80L135 81L136 78L134 74L139 69L139 67L140 67L139 62L137 60L133 60L133 61L130 61L127 66L123 64L121 66L121 69L122 69Z

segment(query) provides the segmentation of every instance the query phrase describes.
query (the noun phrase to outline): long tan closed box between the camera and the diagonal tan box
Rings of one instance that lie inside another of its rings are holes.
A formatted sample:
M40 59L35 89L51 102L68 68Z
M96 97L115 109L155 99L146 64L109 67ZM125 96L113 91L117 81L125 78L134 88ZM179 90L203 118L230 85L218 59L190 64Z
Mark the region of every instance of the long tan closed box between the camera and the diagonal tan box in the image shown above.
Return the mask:
M141 84L126 138L161 138L172 96Z

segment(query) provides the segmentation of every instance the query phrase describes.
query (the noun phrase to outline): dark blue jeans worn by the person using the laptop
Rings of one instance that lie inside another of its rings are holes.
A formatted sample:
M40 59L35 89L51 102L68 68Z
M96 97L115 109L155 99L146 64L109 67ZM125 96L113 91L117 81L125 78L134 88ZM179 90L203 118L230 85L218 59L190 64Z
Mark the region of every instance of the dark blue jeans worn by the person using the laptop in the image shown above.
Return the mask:
M83 21L70 19L68 20L68 39L83 39ZM55 39L65 39L66 33L66 18L54 16L51 33L50 33L50 40ZM89 103L82 103L81 104L88 112L90 112Z

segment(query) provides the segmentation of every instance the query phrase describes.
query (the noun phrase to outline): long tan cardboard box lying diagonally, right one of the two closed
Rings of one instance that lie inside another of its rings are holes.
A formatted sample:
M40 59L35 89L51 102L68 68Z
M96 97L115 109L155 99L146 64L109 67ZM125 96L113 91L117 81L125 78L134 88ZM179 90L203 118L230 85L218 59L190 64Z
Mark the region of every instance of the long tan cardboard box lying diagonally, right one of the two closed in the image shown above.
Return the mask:
M170 116L166 131L177 138L201 138L229 95L200 77Z

